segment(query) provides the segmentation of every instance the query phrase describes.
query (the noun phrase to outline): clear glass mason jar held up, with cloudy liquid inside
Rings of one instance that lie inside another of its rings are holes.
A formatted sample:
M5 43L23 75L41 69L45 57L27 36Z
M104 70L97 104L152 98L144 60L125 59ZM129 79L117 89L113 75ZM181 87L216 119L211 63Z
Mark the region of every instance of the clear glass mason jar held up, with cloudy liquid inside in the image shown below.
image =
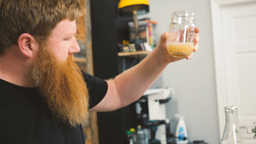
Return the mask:
M167 51L173 57L186 58L194 49L195 14L174 11L168 28Z

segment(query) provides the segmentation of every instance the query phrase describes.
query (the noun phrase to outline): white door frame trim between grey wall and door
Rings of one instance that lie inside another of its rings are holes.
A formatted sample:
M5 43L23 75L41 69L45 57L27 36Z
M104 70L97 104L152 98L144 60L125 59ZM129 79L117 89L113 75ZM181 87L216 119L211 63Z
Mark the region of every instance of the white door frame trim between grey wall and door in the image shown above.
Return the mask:
M240 4L255 3L256 0L211 0L213 52L215 66L215 81L217 90L219 137L221 139L225 126L225 112L227 99L227 81L225 78L225 55L223 53L223 30L221 26L221 12L225 7Z

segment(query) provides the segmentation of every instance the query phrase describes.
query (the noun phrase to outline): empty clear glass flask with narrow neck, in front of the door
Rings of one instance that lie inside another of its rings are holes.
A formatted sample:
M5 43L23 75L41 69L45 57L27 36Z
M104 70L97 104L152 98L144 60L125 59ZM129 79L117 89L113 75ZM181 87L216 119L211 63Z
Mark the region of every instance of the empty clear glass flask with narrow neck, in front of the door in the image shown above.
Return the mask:
M245 144L237 119L237 106L225 107L226 125L221 144Z

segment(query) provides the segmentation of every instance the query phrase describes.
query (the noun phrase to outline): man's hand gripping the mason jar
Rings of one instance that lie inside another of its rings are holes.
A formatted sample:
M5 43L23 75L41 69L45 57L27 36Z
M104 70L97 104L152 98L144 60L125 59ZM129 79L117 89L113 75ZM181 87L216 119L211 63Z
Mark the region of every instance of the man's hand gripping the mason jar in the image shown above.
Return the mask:
M196 27L195 28L195 33L199 33L199 28ZM174 61L178 61L178 60L181 60L181 59L184 59L184 58L175 58L175 57L172 57L168 51L167 51L167 38L168 38L168 33L163 33L161 35L161 38L159 39L159 42L158 42L158 45L156 47L156 49L158 49L159 52L162 53L162 57L163 59L166 61L166 62L174 62ZM194 49L193 51L196 52L197 49L198 49L198 42L199 42L199 36L197 34L195 34L195 37L194 37ZM189 60L193 57L193 53L191 53L186 59Z

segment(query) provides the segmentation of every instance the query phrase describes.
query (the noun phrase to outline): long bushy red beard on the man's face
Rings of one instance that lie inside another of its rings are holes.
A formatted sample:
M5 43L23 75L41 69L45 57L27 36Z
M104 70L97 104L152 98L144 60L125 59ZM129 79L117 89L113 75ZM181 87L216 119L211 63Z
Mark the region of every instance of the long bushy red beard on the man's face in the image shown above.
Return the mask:
M73 55L61 62L49 50L42 44L32 70L34 83L52 114L76 126L86 121L88 115L89 95L84 78Z

